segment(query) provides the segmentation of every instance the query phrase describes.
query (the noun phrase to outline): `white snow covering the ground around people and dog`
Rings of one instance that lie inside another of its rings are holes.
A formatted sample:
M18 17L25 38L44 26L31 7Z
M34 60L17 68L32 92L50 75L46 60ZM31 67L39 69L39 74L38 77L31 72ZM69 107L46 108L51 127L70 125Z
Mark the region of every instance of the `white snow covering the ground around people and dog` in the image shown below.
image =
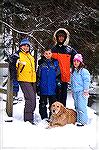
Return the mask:
M64 127L46 129L46 120L41 120L38 109L35 110L35 123L23 121L24 99L13 105L13 117L6 114L5 95L0 95L0 131L1 150L98 150L99 117L88 107L88 125L77 127L73 124ZM23 97L20 91L18 97ZM74 101L68 92L67 107L74 109ZM12 122L10 122L13 120ZM9 121L9 122L6 122Z

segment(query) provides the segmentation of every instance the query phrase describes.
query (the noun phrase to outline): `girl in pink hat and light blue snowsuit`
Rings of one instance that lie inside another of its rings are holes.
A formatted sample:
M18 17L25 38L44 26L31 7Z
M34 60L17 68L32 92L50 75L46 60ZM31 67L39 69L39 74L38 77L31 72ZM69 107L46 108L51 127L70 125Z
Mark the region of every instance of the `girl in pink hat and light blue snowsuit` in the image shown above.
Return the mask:
M84 68L81 54L76 54L73 59L71 75L71 88L74 98L74 105L77 111L77 126L87 124L87 103L90 86L90 73Z

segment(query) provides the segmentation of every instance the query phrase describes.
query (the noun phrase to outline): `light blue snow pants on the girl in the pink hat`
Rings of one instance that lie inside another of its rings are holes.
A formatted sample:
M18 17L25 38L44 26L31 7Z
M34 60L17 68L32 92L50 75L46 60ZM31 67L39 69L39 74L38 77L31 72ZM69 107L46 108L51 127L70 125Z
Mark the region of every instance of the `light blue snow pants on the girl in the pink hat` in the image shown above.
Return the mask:
M83 91L74 92L74 105L77 111L77 122L85 125L88 122L87 116L87 104L88 104L88 97L84 96Z

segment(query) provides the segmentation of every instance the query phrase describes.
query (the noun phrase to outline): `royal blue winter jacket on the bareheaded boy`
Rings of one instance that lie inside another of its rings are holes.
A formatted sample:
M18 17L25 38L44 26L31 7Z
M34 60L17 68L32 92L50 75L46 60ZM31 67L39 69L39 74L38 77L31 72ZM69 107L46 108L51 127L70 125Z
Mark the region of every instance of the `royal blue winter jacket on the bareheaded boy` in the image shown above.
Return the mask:
M55 59L44 59L37 70L39 78L40 95L56 94L56 78L60 75L58 61Z

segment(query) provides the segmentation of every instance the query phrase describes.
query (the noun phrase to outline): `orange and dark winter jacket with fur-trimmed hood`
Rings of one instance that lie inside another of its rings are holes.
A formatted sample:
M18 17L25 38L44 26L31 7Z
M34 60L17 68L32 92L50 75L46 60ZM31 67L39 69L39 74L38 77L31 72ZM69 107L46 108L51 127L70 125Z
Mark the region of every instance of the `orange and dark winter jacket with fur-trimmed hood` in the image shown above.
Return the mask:
M57 33L59 31L64 31L66 33L66 40L62 45L57 41ZM70 81L70 65L73 62L73 57L77 54L77 51L68 46L69 43L69 32L64 28L59 28L54 33L54 42L55 46L52 48L52 58L57 59L61 71L61 81L69 82Z

